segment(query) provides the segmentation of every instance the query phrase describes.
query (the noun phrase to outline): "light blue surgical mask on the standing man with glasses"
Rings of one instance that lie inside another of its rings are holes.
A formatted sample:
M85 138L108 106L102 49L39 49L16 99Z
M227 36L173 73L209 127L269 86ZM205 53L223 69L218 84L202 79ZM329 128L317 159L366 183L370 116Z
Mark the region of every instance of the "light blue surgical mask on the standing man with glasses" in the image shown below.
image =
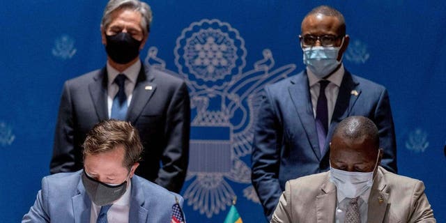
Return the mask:
M341 46L344 44L344 38L342 38ZM341 61L337 61L339 54L339 47L302 47L304 52L303 61L304 64L312 70L316 77L322 79L327 75L330 75L334 69L336 69Z

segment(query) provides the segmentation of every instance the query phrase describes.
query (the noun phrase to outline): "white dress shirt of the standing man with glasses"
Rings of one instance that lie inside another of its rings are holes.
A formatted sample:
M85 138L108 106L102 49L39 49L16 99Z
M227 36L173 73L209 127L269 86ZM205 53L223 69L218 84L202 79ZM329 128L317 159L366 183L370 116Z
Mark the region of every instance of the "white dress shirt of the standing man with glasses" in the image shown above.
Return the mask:
M332 121L334 105L336 105L337 95L339 94L339 87L341 86L342 78L344 77L344 64L341 63L341 67L334 72L330 77L327 78L330 84L325 88L325 96L327 97L328 103L328 127L330 128L330 123ZM314 75L312 70L307 68L309 92L312 95L312 105L313 114L316 118L316 106L318 105L319 89L321 89L321 84L319 84L319 79Z

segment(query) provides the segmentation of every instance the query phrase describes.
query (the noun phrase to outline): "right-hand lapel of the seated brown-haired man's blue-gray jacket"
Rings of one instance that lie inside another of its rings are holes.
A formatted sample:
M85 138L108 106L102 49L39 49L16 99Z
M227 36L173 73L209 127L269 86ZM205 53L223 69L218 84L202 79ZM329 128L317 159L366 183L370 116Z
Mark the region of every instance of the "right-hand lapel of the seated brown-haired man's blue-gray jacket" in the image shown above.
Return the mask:
M139 190L138 185L138 178L133 177L128 222L147 222L148 210L143 207L145 195L143 190Z

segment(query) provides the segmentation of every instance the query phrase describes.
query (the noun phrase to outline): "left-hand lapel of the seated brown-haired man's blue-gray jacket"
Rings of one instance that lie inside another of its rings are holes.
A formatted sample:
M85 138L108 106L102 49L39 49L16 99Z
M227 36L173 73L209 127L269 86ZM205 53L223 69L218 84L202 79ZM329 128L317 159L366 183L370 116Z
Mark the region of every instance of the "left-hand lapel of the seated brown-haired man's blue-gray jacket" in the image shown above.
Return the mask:
M80 178L79 178L80 179ZM82 180L77 184L78 194L72 197L72 213L75 223L90 222L91 200L85 192Z

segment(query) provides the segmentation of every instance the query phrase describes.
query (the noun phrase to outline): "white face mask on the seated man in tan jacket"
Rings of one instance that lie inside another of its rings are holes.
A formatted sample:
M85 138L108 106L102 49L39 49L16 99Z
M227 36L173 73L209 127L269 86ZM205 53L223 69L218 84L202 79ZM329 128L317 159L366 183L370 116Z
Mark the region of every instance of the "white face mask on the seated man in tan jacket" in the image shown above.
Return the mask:
M379 155L380 151L378 151L378 157ZM374 171L378 165L378 157L376 157L374 170L371 172L344 171L335 169L330 164L330 181L336 185L337 190L345 197L359 197L374 183Z

